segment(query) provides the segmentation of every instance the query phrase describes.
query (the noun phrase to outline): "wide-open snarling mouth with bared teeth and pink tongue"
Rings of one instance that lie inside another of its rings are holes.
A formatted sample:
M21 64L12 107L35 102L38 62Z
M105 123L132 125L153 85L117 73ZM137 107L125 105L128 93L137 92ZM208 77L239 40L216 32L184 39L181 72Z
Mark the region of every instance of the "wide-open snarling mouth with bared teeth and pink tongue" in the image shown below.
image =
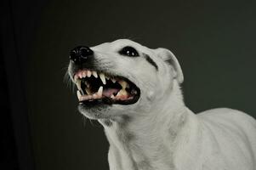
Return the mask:
M85 105L131 105L139 99L139 88L125 77L90 70L79 70L74 75L77 98Z

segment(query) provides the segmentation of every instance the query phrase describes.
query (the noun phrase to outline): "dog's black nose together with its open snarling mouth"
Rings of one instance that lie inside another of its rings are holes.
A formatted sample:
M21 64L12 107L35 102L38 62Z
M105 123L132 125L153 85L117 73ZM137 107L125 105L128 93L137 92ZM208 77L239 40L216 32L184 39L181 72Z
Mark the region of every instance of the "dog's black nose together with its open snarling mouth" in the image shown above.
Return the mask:
M77 85L80 104L131 105L138 101L139 88L128 78L104 71L100 65L95 66L92 49L84 46L74 48L70 60L71 77Z

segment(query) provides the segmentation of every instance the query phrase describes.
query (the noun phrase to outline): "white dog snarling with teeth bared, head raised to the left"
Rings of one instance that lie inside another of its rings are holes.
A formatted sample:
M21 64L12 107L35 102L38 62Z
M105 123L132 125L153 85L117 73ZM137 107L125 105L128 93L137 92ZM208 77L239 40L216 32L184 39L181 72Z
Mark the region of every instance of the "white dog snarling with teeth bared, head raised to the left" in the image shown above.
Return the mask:
M79 111L98 120L111 170L255 170L256 122L231 109L194 114L168 49L126 39L71 50Z

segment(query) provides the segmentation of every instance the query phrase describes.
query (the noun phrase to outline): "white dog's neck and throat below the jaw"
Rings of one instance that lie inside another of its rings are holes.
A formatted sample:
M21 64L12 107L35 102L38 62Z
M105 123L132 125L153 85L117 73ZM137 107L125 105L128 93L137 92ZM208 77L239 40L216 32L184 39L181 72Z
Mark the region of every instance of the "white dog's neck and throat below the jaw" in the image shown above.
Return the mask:
M191 120L194 115L185 107L179 87L174 88L178 94L172 95L180 96L164 99L162 102L167 103L145 113L148 116L123 116L111 124L103 123L111 145L111 170L176 169L174 155L182 155L182 150L175 153L179 142L190 139L189 133L183 129L194 126L191 121L196 121L196 118Z

